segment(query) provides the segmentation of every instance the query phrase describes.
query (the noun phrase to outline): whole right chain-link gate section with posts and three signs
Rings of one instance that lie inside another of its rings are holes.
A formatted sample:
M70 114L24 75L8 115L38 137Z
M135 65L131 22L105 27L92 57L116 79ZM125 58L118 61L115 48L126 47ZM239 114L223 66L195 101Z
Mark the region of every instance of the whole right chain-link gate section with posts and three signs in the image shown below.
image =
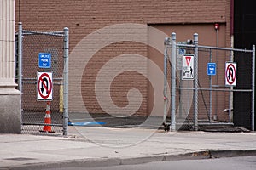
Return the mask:
M166 38L164 89L169 82L171 99L166 99L166 90L164 99L165 109L170 105L171 110L165 110L164 120L171 116L171 130L232 125L234 94L248 94L250 112L244 118L249 119L245 121L250 122L254 130L255 47L247 50L201 46L197 34L194 38L194 41L177 44L175 33L172 38ZM244 64L234 62L238 58L246 58L247 71L243 69ZM244 71L242 75L247 81L236 76L237 71Z

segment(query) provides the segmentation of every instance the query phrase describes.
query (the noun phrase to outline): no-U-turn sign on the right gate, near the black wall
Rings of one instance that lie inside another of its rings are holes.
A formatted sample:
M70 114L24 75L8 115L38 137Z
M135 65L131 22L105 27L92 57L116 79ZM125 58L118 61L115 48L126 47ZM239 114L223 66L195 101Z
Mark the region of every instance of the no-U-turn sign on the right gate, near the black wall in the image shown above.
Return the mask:
M234 62L226 62L225 85L226 86L236 86L236 63L234 63Z

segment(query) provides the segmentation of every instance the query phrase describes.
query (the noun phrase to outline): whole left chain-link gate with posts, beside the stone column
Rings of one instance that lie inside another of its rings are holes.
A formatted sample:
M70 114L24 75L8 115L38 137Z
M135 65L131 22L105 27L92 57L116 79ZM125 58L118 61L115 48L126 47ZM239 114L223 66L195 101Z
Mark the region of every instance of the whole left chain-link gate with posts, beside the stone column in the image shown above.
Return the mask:
M19 24L18 35L22 133L67 134L68 29L26 31Z

